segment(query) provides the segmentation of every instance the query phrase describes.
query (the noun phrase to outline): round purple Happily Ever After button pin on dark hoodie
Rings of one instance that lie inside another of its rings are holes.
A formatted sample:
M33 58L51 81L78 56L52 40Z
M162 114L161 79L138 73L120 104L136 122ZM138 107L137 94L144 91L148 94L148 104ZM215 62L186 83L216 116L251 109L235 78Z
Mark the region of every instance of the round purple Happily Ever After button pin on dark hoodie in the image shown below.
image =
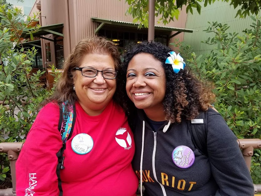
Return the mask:
M195 155L188 146L177 146L172 152L172 160L176 166L185 169L193 165Z

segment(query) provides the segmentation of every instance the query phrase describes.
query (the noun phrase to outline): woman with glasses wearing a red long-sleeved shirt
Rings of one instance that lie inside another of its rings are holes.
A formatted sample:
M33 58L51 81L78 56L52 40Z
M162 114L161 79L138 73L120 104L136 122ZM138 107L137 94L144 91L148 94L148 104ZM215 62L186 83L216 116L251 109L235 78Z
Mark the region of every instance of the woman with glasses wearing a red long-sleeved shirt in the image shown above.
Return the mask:
M111 41L93 37L76 45L19 155L18 196L136 195L133 134L121 108L122 93L116 90L119 67L120 56ZM65 102L75 107L76 118L63 144L58 127Z

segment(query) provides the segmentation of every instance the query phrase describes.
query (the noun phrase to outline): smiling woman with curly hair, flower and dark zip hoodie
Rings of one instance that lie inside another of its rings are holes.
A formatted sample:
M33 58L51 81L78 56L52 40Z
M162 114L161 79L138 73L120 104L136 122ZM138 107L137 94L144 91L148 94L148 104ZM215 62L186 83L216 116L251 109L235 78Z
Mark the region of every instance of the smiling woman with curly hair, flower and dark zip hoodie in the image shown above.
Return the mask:
M254 194L236 136L210 108L211 87L185 67L179 54L157 42L133 45L124 56L123 74L136 145L133 168L144 195ZM188 127L192 121L202 123L195 119L200 114L207 119L206 154Z

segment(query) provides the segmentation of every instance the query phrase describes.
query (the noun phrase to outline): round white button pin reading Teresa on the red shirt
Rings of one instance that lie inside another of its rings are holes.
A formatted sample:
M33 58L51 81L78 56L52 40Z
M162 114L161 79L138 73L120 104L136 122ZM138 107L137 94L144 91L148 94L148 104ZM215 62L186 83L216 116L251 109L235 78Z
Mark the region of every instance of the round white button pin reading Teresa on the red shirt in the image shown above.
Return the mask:
M85 155L91 151L93 144L93 139L90 135L80 133L72 139L71 148L75 153Z

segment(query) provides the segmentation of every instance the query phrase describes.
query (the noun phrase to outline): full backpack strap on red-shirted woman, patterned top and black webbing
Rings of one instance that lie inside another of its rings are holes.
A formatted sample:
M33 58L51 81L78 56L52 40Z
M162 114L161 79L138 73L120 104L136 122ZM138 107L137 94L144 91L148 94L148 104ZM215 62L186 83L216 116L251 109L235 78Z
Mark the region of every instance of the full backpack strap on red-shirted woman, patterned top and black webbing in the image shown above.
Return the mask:
M68 139L70 139L74 124L76 119L76 109L75 105L68 104L68 101L65 101L60 106L60 119L58 124L58 130L62 136L61 140L63 141L63 146L57 152L56 156L58 158L58 164L56 167L56 174L58 178L58 188L59 188L59 196L63 195L62 185L61 185L61 178L60 178L60 169L64 169L64 150L66 148L65 143Z

